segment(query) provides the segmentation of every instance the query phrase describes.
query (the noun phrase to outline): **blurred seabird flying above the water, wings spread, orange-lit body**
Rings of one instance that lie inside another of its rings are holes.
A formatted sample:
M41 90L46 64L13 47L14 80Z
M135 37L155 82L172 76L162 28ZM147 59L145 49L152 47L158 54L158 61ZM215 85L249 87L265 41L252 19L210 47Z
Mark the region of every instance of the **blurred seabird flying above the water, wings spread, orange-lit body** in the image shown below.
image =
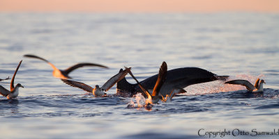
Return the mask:
M68 74L70 74L70 72L73 72L73 70L76 70L79 67L96 66L96 67L108 68L104 65L99 65L99 64L96 64L96 63L77 63L76 65L73 65L72 67L68 67L68 69L66 69L66 70L59 70L52 63L50 63L48 60L45 60L44 58L40 58L38 56L34 56L34 55L31 55L31 54L26 54L24 56L27 57L27 58L37 58L37 59L45 61L50 66L52 66L52 68L53 68L52 75L54 77L60 78L60 79L72 79L70 76L68 76Z

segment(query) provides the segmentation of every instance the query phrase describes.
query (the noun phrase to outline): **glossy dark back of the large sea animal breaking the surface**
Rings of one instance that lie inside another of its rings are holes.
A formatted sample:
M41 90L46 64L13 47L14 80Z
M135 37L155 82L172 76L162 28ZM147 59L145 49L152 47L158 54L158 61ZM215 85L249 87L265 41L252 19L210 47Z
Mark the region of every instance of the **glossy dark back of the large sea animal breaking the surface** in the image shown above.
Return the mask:
M120 71L122 71L122 69ZM182 67L169 70L167 71L167 77L159 93L163 95L163 97L169 95L174 89L181 90L181 93L183 93L186 92L183 90L183 88L186 88L188 85L206 83L216 80L226 80L228 77L229 76L218 76L212 72L198 67ZM153 90L157 79L158 74L141 81L140 84L142 84L147 90ZM137 83L128 83L126 78L121 79L121 81L117 83L116 88L120 90L121 93L129 93L130 97L135 95L137 92L142 92L140 86Z

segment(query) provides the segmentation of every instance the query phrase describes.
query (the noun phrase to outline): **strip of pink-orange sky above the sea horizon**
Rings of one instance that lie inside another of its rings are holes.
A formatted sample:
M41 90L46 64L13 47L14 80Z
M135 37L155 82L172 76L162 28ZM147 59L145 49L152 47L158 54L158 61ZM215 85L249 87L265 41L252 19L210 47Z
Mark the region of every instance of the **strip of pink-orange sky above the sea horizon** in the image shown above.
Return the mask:
M279 12L279 0L0 0L0 11Z

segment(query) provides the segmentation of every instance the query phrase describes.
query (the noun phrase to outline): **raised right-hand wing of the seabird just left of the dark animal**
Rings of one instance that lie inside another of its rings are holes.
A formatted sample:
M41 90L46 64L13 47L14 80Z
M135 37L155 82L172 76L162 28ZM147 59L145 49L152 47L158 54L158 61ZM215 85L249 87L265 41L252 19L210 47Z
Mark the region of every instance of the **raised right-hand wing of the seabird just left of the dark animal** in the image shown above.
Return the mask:
M119 72L118 74L114 75L112 78L110 78L107 82L105 82L105 84L101 87L102 90L110 90L110 88L112 88L112 86L119 82L121 79L123 79L128 72L130 71L130 67L126 68L126 70L123 70L122 72Z

